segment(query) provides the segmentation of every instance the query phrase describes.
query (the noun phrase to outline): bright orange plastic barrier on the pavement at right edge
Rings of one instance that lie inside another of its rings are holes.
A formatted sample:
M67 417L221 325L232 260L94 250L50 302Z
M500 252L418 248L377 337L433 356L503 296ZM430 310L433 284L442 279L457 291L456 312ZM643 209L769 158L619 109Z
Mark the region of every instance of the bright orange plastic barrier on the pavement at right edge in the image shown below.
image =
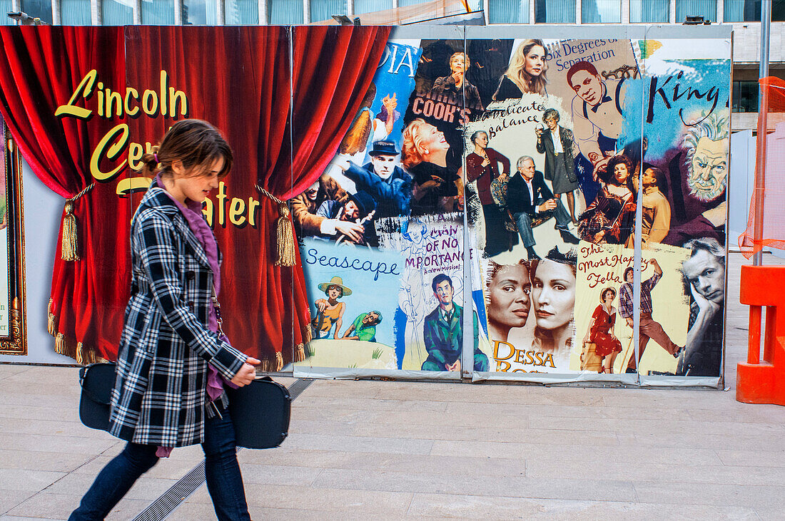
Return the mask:
M785 405L785 267L742 266L739 289L739 300L750 306L750 343L747 362L739 362L736 372L736 400Z

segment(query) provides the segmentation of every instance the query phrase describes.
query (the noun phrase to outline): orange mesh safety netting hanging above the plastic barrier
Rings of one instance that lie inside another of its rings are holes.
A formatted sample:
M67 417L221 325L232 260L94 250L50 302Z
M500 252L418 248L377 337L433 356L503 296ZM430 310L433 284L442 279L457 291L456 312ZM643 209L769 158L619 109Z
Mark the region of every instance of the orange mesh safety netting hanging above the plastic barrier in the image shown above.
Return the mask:
M761 143L763 129L758 115L755 178L757 181L762 175L763 183L762 190L753 190L747 230L739 235L739 248L747 259L766 246L785 249L785 81L769 76L761 78L760 84L761 110L765 110L767 121L765 142ZM765 157L761 157L761 145L765 146ZM758 211L759 204L763 205L762 212ZM756 215L762 218L759 237L755 233Z

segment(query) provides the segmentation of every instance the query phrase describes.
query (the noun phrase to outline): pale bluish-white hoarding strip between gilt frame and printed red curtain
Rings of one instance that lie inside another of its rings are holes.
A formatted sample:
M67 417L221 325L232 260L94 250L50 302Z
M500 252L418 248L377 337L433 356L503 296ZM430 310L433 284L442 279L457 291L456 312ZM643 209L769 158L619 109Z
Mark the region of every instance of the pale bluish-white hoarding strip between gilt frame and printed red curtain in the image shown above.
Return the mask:
M0 355L0 362L75 364L54 352L54 338L46 329L49 290L63 198L44 186L27 163L22 169L24 194L24 257L27 288L27 356Z

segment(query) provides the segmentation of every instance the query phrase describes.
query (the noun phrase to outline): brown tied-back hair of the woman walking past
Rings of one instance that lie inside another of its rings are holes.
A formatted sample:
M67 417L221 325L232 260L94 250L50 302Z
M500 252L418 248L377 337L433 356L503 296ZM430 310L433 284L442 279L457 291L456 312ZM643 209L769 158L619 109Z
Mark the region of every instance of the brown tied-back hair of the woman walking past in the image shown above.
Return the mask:
M217 128L200 119L177 121L166 131L161 142L152 147L151 154L141 157L143 175L162 177L173 175L172 164L181 161L189 175L201 175L218 158L224 167L218 172L221 179L232 169L232 149Z

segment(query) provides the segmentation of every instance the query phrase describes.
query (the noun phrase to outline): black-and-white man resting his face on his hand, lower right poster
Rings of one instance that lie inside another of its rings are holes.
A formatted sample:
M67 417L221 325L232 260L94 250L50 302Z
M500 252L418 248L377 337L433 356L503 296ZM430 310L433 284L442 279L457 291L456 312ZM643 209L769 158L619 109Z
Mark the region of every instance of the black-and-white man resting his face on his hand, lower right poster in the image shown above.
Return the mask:
M685 244L692 253L681 264L689 283L690 313L687 345L677 374L719 376L725 306L725 248L712 238Z

